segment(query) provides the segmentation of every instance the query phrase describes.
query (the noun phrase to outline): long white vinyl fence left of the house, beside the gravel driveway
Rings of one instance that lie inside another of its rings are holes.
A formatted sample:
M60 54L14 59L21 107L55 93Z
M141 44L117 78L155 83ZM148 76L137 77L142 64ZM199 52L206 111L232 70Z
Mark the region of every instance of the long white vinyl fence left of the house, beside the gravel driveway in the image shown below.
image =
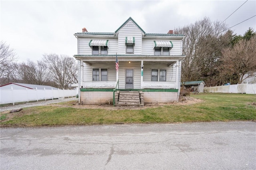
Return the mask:
M76 90L0 89L0 104L58 99L76 96Z

